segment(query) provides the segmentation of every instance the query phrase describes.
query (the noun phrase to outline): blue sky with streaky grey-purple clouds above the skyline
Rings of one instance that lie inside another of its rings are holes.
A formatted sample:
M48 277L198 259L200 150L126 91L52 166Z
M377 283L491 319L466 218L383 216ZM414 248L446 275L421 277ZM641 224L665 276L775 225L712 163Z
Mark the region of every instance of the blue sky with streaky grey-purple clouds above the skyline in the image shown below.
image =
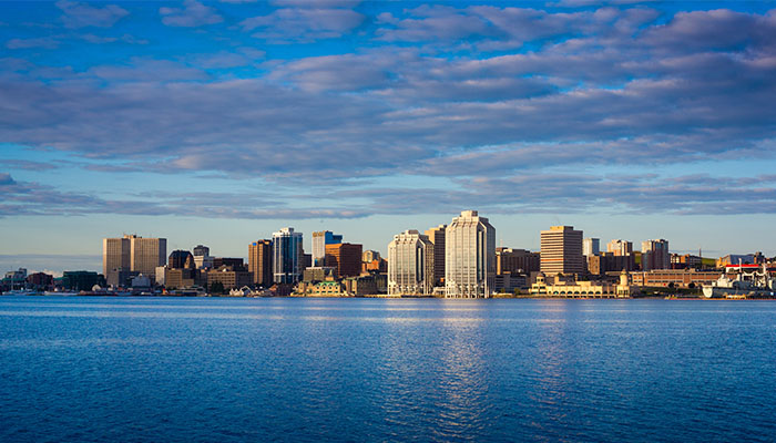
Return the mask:
M776 2L0 2L0 270L102 238L776 255Z

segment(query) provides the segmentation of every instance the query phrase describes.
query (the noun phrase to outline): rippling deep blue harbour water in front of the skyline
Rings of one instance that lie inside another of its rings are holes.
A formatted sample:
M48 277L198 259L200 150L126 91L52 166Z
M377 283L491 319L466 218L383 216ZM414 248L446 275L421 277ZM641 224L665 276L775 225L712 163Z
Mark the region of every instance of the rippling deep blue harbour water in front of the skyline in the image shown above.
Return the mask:
M776 441L776 302L0 297L0 441Z

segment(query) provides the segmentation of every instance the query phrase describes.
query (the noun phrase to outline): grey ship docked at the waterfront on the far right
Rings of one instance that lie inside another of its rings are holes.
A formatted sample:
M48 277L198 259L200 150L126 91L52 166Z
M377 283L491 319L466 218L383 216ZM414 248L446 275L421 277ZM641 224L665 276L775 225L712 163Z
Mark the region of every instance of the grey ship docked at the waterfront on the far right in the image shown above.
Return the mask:
M776 278L770 278L768 269L757 266L729 266L736 272L735 278L727 272L709 286L703 287L706 298L776 298Z

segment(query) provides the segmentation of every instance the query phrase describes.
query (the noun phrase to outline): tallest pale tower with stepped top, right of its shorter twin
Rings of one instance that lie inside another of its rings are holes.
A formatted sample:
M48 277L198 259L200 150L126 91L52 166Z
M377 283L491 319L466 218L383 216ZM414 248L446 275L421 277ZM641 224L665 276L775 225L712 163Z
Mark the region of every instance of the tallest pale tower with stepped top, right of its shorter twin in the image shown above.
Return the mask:
M445 297L490 297L496 286L496 229L464 210L445 230Z

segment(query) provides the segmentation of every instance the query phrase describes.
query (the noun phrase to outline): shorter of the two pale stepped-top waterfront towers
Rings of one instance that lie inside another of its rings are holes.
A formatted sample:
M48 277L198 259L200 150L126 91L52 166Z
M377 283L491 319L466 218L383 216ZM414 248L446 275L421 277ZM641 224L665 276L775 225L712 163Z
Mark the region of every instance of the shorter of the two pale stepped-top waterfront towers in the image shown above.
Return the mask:
M430 295L433 290L433 244L415 229L388 244L388 293Z

